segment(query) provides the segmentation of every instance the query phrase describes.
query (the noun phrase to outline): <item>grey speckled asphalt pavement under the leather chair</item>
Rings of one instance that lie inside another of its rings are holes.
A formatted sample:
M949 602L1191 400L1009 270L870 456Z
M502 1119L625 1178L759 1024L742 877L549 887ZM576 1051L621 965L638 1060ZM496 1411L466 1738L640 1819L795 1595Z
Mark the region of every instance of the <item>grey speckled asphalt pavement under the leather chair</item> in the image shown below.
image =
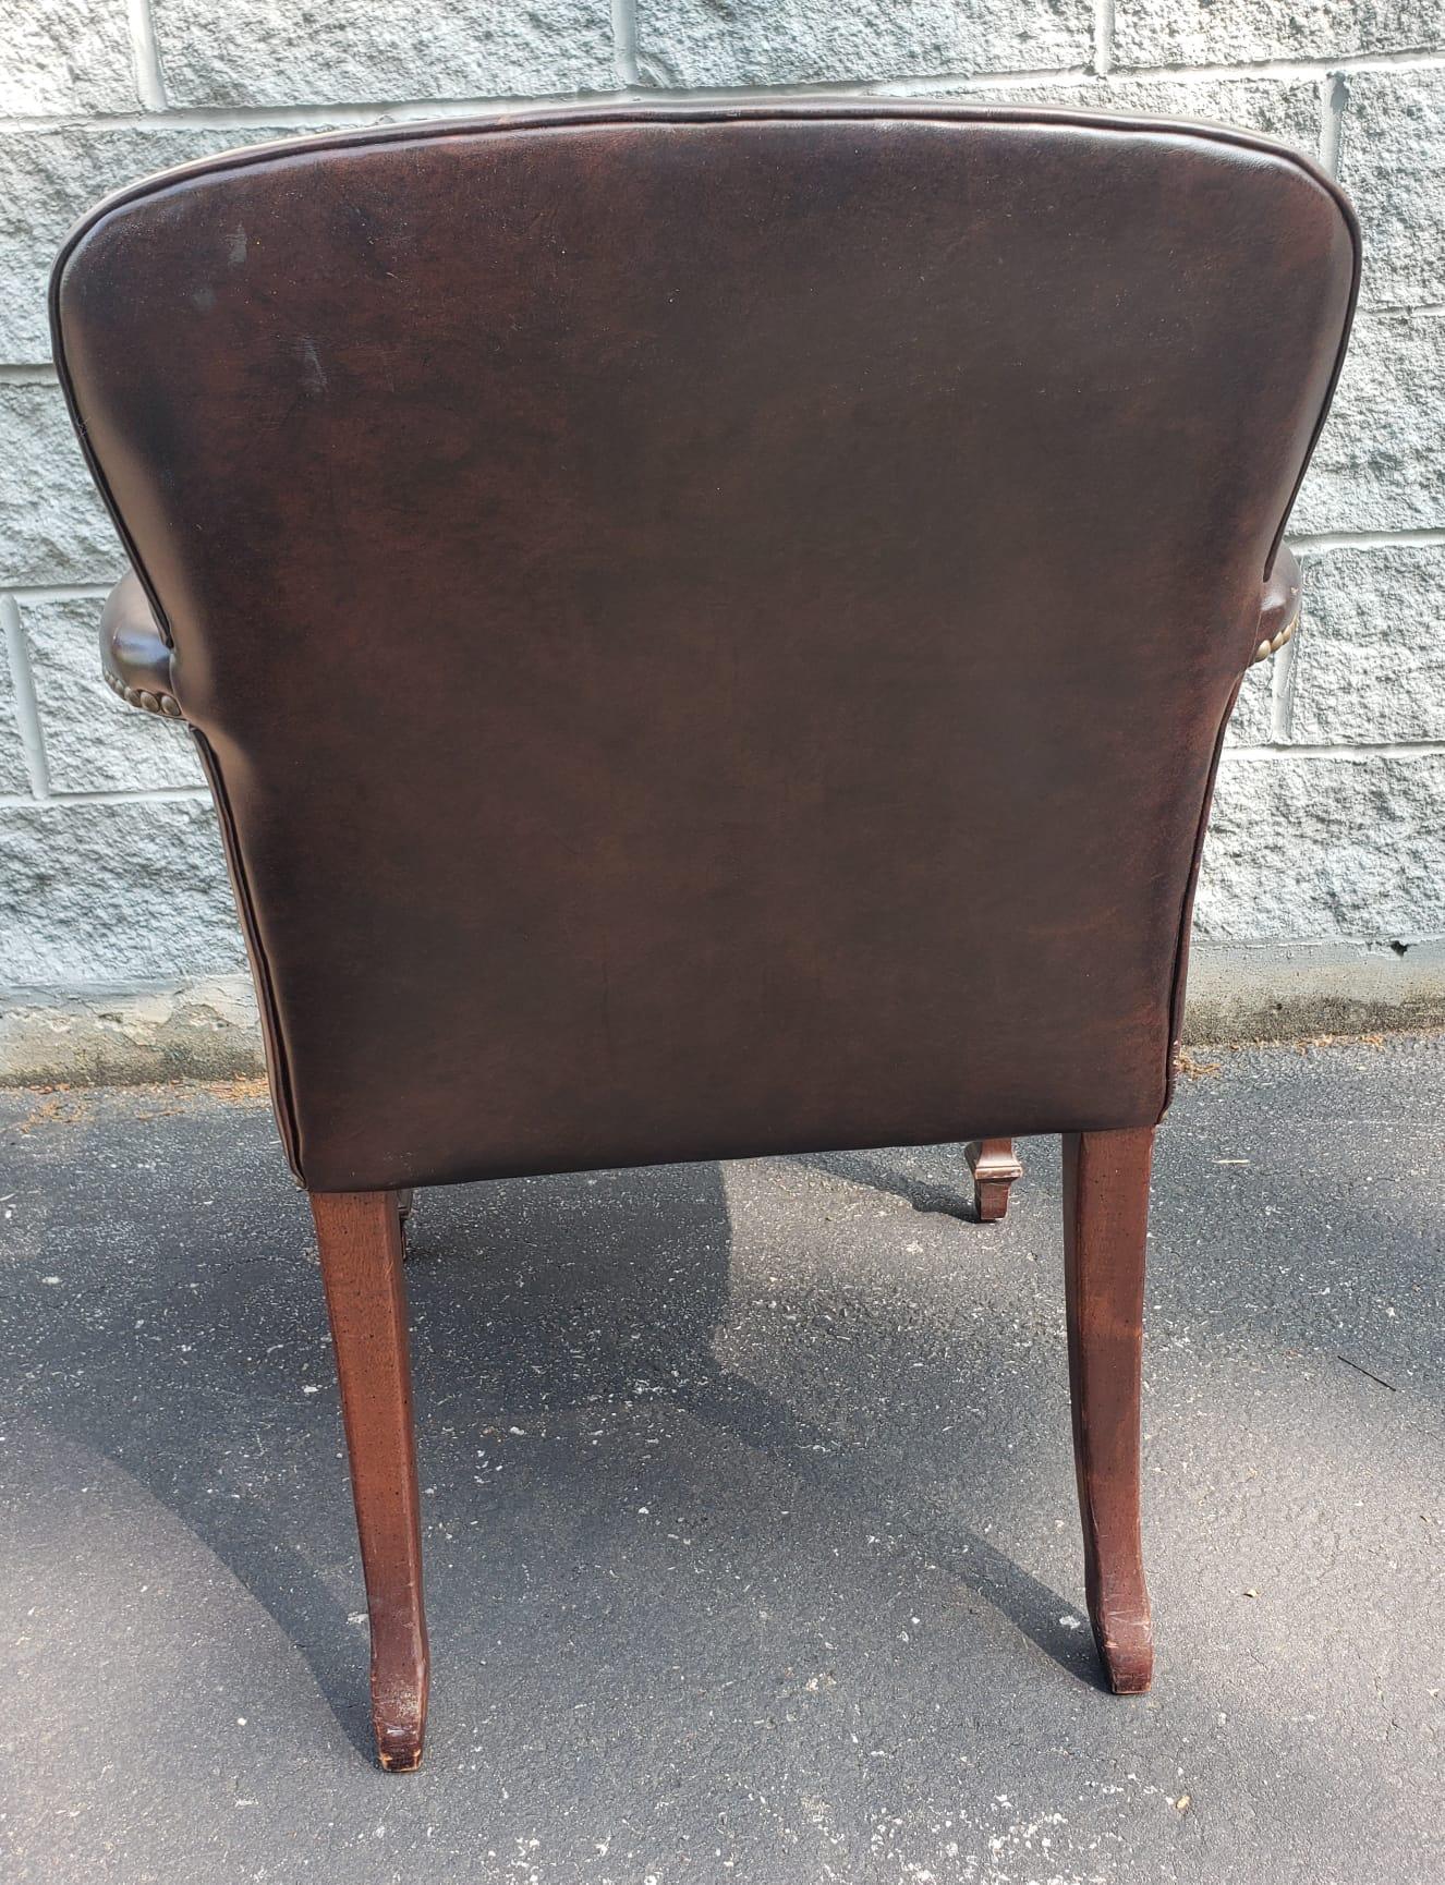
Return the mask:
M1437 1885L1445 1042L1196 1050L1154 1691L1100 1691L1058 1146L424 1191L426 1766L370 1762L315 1250L253 1086L0 1095L0 1874Z

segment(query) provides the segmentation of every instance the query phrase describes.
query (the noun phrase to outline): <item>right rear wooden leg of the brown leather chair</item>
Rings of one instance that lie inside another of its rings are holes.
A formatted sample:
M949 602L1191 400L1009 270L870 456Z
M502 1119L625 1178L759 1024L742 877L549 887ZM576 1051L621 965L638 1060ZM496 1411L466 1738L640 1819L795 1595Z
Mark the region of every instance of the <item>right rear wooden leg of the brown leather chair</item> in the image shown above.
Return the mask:
M1154 1668L1139 1534L1139 1365L1153 1127L1064 1135L1073 1465L1094 1642L1115 1695Z

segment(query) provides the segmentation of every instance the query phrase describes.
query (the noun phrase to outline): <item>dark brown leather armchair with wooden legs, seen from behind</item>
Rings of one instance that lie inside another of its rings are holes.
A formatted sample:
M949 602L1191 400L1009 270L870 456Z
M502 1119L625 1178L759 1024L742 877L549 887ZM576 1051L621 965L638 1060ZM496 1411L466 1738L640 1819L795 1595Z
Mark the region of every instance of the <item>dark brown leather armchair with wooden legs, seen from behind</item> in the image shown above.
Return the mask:
M215 792L421 1759L407 1188L1064 1135L1088 1610L1147 1687L1153 1135L1358 236L1260 138L919 102L358 130L102 204L113 684ZM1004 1193L1005 1195L1005 1189Z

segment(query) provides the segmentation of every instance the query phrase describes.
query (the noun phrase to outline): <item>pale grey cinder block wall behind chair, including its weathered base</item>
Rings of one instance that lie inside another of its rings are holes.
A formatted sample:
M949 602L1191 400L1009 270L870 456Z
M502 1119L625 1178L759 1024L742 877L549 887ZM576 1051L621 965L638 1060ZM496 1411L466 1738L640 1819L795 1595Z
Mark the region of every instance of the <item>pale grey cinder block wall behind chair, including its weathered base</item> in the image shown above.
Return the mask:
M45 332L72 219L302 130L760 89L1207 117L1345 181L1362 313L1294 513L1305 624L1251 675L1222 767L1196 1035L1445 1012L1441 0L23 0L0 62L0 1076L253 1052L187 735L96 673L121 554Z

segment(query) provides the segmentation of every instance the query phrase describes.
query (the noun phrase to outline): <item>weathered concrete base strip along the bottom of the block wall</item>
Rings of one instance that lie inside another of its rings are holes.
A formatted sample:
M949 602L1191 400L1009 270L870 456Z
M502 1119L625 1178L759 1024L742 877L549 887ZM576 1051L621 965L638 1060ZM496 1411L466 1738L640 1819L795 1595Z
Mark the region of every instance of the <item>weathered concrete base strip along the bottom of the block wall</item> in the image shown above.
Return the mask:
M1298 1041L1445 1027L1445 939L1194 946L1185 1041ZM262 1071L243 975L0 997L0 1086L234 1080Z

